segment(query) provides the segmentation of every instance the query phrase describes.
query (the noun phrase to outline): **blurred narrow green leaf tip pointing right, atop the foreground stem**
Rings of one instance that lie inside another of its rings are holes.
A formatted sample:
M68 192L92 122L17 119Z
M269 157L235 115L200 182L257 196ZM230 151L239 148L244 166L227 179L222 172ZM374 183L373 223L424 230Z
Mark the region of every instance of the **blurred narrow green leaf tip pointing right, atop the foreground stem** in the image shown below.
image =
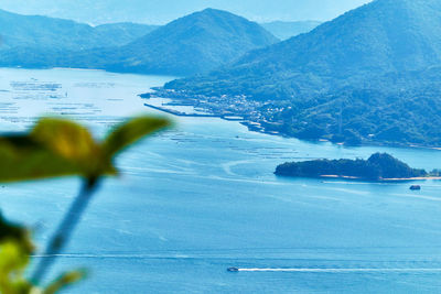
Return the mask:
M103 143L103 149L107 157L111 157L141 138L170 126L170 121L163 118L139 117L131 119L110 132Z

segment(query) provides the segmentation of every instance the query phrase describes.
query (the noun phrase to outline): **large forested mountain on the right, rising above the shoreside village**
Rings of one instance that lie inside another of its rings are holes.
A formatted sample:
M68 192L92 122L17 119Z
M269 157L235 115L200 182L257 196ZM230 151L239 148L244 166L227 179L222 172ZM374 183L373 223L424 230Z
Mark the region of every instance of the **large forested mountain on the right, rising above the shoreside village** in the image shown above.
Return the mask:
M441 1L376 0L165 89L246 96L301 139L441 145L440 68Z

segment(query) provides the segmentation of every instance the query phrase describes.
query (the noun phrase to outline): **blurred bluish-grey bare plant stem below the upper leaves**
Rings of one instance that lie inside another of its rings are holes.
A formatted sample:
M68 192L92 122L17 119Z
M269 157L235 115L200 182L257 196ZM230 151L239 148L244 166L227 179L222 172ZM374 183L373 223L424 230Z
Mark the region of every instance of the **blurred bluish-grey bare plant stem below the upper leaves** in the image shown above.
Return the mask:
M67 246L76 226L89 205L94 193L97 190L99 182L99 178L84 182L82 190L72 203L68 211L64 215L64 218L51 238L47 248L41 258L41 261L37 263L37 266L31 277L31 281L35 285L39 285L44 280L45 274L47 274L58 254Z

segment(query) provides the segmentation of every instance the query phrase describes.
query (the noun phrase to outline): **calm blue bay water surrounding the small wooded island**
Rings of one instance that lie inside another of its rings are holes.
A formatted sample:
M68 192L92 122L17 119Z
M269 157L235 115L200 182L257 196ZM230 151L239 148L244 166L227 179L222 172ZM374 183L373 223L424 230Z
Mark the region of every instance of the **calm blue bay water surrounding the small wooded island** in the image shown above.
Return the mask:
M137 95L169 79L0 69L0 127L22 130L36 116L61 113L99 137L122 117L152 112ZM411 182L272 174L284 161L377 151L432 170L441 167L440 151L348 149L254 133L219 119L174 120L176 129L122 155L122 175L98 193L57 263L56 272L90 270L72 293L441 291L441 182L419 182L416 193ZM7 185L0 207L36 226L44 244L78 185L75 178ZM258 271L229 273L228 266Z

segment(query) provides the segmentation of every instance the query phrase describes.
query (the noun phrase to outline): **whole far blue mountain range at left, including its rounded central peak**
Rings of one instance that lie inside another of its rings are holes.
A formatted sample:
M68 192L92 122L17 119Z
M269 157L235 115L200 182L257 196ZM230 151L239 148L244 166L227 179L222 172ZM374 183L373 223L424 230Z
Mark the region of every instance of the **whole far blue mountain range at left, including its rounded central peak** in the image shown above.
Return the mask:
M250 50L279 42L259 24L214 9L159 28L127 23L92 28L12 13L0 15L0 24L2 21L9 23L0 26L7 40L6 51L0 51L2 66L100 68L184 76L207 73ZM20 25L14 25L18 22Z

